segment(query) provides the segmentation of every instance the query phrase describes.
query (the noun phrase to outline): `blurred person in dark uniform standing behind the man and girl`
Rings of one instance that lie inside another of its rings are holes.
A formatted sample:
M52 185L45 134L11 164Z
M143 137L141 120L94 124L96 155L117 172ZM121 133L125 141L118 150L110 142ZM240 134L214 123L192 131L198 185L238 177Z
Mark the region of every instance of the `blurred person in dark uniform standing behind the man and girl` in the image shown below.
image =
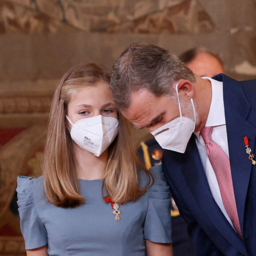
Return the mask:
M193 48L182 53L179 58L196 75L213 77L224 73L223 63L220 57L208 49ZM161 163L163 149L153 138L142 141L138 149L138 155L147 168ZM187 224L180 216L178 208L172 200L172 239L173 255L175 256L196 256L192 242L188 237Z

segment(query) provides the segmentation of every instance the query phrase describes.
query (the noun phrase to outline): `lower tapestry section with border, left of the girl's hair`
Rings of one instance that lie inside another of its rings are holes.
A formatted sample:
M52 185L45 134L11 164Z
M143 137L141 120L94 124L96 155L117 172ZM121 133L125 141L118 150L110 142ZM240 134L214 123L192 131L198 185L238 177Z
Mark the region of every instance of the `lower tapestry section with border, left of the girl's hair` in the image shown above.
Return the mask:
M0 255L25 255L16 203L17 176L40 175L46 122L37 124L33 114L48 114L51 98L52 95L0 95ZM3 117L13 114L30 115L30 126L23 126L14 118L11 128L4 127Z

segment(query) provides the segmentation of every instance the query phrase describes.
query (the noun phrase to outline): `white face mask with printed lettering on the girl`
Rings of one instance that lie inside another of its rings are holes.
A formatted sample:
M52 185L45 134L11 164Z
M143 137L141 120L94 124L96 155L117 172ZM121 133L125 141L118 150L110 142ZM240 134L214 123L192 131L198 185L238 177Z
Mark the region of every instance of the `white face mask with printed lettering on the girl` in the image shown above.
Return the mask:
M119 132L118 120L114 117L89 117L72 124L71 138L83 150L100 156L113 142Z

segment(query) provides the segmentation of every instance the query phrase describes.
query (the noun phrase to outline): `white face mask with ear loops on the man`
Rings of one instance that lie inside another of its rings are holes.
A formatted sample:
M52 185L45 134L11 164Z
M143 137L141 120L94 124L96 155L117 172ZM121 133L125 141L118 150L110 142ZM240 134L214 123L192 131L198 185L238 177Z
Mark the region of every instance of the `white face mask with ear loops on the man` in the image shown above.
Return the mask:
M194 121L188 117L182 117L181 103L178 94L178 84L179 83L176 84L176 92L178 96L180 117L177 117L171 120L169 123L162 125L158 129L151 132L151 134L162 148L184 153L188 145L188 141L192 133L195 131L196 110L194 102L191 98L190 100L194 112Z

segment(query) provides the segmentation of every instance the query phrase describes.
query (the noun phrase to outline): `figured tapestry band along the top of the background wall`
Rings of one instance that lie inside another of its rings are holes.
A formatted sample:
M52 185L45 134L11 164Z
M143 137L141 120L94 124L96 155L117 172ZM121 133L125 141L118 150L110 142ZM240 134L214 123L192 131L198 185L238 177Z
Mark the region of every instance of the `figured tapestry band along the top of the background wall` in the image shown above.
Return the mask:
M1 33L83 30L174 34L215 30L196 0L2 0Z

